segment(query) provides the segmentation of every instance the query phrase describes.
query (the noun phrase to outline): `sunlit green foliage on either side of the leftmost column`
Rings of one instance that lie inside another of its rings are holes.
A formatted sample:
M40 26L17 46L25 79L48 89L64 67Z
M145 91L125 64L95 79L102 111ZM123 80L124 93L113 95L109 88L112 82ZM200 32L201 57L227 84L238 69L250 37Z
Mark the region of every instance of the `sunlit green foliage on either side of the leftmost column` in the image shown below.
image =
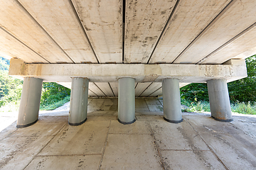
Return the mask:
M0 57L0 111L15 111L21 99L23 81L9 77L9 60ZM56 83L43 82L41 109L52 110L70 100L70 89Z

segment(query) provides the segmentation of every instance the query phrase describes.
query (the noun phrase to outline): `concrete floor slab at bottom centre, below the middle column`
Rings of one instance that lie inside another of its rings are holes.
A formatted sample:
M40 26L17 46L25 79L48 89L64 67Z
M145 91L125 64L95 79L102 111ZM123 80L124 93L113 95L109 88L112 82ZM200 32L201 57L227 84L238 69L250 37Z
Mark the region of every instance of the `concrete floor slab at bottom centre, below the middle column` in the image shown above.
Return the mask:
M151 135L110 134L100 169L162 169Z

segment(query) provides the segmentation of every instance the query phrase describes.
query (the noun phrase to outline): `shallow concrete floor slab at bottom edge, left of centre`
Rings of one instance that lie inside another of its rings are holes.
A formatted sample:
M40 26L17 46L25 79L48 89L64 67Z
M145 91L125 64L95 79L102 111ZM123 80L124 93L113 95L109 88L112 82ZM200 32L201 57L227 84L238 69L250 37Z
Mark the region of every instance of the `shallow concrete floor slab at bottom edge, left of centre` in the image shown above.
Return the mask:
M97 169L101 155L36 157L28 169Z

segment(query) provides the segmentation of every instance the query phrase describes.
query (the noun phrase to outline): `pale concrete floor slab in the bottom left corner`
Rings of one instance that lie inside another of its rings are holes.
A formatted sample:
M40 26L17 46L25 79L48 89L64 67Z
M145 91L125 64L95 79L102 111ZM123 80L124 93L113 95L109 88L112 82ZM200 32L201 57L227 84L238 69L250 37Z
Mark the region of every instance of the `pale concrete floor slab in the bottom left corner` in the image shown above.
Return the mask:
M53 136L6 137L0 142L0 169L24 169Z

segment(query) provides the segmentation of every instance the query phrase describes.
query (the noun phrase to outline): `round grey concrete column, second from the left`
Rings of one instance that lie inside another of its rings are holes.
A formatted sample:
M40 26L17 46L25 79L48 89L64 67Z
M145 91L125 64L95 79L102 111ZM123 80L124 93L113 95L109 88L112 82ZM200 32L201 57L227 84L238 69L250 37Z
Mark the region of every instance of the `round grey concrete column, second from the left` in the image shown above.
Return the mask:
M69 125L81 125L87 120L88 87L87 78L72 78Z

